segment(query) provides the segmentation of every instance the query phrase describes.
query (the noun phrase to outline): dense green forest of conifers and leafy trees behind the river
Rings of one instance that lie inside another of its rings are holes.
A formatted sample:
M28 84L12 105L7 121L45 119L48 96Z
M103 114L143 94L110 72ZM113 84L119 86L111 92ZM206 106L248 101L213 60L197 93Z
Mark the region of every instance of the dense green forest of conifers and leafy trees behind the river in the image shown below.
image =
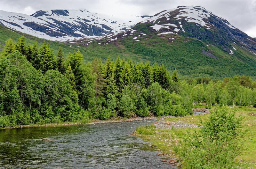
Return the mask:
M38 47L9 39L0 54L0 127L90 119L185 116L196 103L256 107L256 81L234 76L180 79L165 65L110 57L103 65L73 51L55 56L44 42Z

